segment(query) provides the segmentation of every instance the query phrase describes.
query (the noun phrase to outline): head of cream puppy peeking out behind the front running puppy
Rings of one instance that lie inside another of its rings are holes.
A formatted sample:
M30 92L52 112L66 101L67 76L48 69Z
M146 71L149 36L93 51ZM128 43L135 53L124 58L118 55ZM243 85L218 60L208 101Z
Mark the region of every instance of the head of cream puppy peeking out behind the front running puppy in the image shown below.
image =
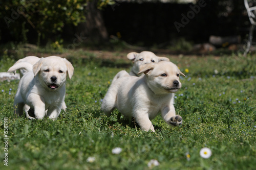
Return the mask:
M127 58L129 60L133 61L133 67L132 70L130 71L131 76L138 76L138 72L140 69L140 65L146 64L146 63L157 63L159 61L170 61L166 57L158 57L152 52L141 52L141 53L136 53L132 52L127 54Z

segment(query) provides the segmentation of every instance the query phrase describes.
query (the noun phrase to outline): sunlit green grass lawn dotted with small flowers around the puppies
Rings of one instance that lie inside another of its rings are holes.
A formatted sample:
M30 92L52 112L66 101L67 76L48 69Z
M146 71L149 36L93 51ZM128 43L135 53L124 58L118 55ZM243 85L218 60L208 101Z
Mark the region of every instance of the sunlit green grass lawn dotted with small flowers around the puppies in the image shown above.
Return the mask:
M122 69L130 71L130 61L83 55L68 56L75 67L67 80L68 109L55 121L13 115L18 80L0 82L0 139L4 117L9 138L8 167L2 161L0 169L150 169L151 159L159 162L153 169L255 169L255 55L170 58L187 76L175 104L183 125L170 128L157 116L156 133L141 131L122 116L118 120L117 110L110 117L99 110L111 80ZM15 61L3 58L0 71ZM0 147L3 159L3 142ZM122 149L118 155L112 154L116 147ZM200 157L204 147L212 151L208 159Z

